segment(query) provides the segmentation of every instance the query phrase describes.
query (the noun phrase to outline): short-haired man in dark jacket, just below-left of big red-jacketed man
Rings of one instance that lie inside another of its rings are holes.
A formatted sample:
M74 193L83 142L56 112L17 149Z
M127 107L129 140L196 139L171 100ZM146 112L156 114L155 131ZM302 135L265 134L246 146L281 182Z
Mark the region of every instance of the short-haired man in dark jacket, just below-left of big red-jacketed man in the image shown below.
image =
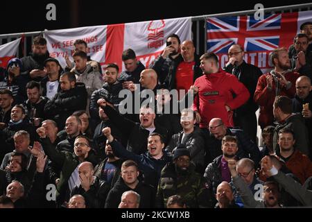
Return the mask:
M196 166L196 171L203 174L205 171L205 139L201 135L201 130L196 123L196 114L191 109L181 111L181 125L183 130L173 135L171 142L166 147L166 151L174 153L175 148L184 144L189 150L191 160Z

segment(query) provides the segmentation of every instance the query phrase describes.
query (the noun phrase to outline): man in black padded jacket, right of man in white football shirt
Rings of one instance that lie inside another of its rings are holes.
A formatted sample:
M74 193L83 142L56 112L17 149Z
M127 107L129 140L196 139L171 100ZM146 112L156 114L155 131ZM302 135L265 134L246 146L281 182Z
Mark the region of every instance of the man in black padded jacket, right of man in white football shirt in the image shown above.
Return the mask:
M77 110L86 109L87 90L85 84L76 83L76 76L72 72L65 72L60 76L60 87L61 91L44 106L44 112L47 118L58 123L61 130L67 117Z

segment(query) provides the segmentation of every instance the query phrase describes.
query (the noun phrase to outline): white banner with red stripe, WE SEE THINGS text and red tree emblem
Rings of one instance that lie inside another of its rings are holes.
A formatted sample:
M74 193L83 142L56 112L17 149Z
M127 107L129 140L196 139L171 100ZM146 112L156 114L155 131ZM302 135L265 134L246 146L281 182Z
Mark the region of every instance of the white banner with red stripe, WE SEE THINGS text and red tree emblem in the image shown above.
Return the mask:
M92 60L103 67L115 63L124 70L121 54L125 49L133 49L137 59L148 67L162 53L166 37L172 33L179 35L181 42L191 40L191 17L45 31L44 37L50 56L62 67L66 66L65 56L73 61L73 42L82 39L88 44Z

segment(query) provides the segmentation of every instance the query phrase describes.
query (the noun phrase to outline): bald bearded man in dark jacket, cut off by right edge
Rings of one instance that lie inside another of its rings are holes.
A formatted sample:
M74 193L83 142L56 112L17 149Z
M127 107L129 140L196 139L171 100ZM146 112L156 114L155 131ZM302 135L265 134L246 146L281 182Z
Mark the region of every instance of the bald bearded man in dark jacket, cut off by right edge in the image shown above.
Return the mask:
M304 123L308 128L310 142L310 160L312 160L312 86L311 79L308 76L300 76L296 80L296 94L293 98L293 112L300 112L304 117ZM303 105L306 108L303 109Z

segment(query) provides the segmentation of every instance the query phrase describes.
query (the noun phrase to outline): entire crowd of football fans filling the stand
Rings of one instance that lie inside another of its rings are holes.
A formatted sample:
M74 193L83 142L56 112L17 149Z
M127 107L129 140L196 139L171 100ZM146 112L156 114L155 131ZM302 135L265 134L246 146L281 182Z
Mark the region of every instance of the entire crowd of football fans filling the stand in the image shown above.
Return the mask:
M266 74L239 44L220 67L175 34L150 67L126 49L125 71L102 69L84 40L61 67L35 37L0 69L0 207L311 207L312 22L300 30Z

